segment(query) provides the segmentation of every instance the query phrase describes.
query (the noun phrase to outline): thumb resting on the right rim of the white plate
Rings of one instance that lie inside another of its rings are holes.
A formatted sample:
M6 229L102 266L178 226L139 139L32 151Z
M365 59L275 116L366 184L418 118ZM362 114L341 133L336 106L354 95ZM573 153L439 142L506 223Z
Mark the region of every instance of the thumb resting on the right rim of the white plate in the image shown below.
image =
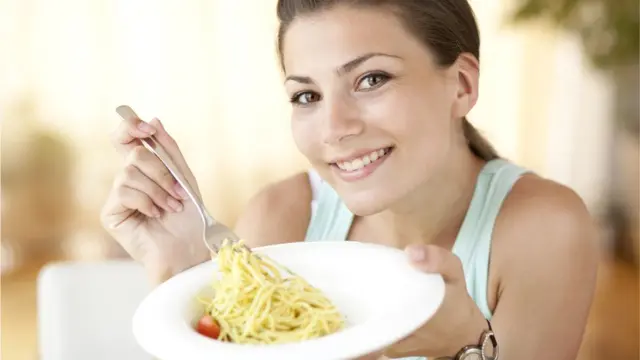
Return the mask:
M416 268L441 274L448 283L464 282L462 263L451 251L436 245L415 244L407 246L405 252Z

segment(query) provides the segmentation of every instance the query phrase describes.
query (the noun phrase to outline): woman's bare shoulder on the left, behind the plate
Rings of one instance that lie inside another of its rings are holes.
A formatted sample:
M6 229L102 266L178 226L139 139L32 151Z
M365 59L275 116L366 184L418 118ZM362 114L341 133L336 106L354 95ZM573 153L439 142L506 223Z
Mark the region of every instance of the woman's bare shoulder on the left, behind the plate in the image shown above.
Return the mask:
M250 247L302 241L311 218L312 191L306 172L258 192L236 223Z

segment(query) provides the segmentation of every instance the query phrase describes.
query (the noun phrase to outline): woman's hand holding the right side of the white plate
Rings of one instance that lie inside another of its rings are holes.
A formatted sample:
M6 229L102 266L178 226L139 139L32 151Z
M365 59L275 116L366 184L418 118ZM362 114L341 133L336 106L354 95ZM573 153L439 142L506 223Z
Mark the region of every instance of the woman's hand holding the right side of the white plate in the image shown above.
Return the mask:
M435 245L410 245L406 252L416 268L442 275L445 297L436 314L422 328L381 353L389 358L453 357L463 347L477 345L488 325L467 292L458 257Z

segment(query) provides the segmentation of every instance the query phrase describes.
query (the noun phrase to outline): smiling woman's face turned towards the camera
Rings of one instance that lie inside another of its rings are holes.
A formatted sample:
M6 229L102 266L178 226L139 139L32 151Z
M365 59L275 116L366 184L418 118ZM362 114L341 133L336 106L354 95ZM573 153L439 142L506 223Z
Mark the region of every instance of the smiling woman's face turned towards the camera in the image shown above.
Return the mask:
M392 13L299 17L283 45L295 142L355 214L407 199L459 146L457 71Z

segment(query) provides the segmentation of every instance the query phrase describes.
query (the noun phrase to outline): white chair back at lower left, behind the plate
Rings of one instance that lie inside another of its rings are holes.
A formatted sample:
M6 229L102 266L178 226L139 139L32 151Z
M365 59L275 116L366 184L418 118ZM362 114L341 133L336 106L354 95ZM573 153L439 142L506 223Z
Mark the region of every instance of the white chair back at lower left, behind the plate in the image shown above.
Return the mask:
M152 359L131 330L150 289L144 269L132 261L46 266L38 278L40 359Z

